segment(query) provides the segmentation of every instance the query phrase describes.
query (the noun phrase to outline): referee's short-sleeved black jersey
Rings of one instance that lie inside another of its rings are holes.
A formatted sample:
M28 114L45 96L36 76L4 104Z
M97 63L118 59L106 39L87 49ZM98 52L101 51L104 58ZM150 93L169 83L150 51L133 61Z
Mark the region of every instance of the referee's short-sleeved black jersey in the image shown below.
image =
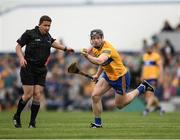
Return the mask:
M41 34L39 27L36 26L32 30L26 30L17 40L21 47L26 45L25 59L29 64L36 66L44 66L49 55L52 43L55 41L48 34Z

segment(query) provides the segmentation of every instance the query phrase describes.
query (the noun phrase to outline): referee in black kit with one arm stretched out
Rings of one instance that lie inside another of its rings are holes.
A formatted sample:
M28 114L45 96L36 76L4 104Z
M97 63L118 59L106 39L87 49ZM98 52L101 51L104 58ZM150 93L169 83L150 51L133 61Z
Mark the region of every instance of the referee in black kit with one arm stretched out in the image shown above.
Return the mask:
M18 102L17 111L13 116L13 123L16 128L21 128L21 112L31 97L31 117L29 128L36 127L36 116L40 108L40 97L45 86L47 74L46 62L50 56L51 47L73 53L72 48L68 48L58 43L49 34L51 18L44 15L39 20L39 26L26 30L17 40L16 54L20 61L20 77L24 94ZM22 47L25 48L25 55Z

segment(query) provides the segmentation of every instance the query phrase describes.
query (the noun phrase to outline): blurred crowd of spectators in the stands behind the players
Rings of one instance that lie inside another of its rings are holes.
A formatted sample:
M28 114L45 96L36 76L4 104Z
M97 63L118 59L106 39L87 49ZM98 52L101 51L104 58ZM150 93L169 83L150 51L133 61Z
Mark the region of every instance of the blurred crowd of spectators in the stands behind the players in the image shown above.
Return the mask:
M180 32L180 24L172 27L165 21L161 32ZM60 42L64 43L62 39ZM152 43L143 39L141 51L120 52L131 73L131 88L137 87L141 82L141 58L149 46L160 53L163 60L164 82L159 83L156 94L160 101L168 102L172 97L180 96L180 56L169 39L160 42L158 37L153 35ZM86 77L67 72L67 67L75 61L82 71L90 75L96 73L97 66L89 63L78 52L72 55L62 51L52 52L47 64L49 71L41 108L63 111L91 109L90 95L95 83ZM0 111L13 110L23 94L19 71L19 60L15 53L0 54ZM103 96L104 110L114 110L113 98L113 89Z

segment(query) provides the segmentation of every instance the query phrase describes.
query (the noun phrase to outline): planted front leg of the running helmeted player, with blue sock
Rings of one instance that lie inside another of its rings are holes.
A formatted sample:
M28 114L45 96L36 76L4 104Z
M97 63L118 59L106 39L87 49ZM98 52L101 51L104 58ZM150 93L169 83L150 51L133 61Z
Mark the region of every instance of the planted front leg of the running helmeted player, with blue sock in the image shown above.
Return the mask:
M92 110L94 114L94 123L91 124L91 127L102 127L101 124L101 113L102 113L102 103L101 96L106 93L111 87L108 82L102 78L95 85L94 90L91 95L92 99Z

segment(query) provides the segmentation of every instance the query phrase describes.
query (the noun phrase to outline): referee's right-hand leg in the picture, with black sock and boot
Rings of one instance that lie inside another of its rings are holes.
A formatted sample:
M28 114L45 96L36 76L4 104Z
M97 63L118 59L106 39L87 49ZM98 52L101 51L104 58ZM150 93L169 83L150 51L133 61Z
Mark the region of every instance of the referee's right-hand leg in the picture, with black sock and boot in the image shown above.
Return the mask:
M41 95L43 93L43 89L44 89L43 86L35 85L33 100L32 100L32 105L31 105L31 118L30 118L30 123L29 123L30 128L36 127L35 120L36 120L37 114L39 112L40 100L41 100Z

